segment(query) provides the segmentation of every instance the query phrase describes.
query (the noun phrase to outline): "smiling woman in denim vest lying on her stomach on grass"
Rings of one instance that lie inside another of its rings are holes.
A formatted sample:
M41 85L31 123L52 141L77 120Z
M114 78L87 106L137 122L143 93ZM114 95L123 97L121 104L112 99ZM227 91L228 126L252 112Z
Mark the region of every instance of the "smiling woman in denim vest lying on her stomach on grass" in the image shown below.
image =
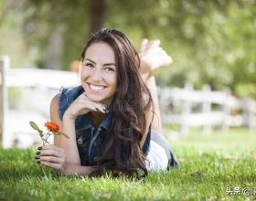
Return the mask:
M144 40L139 58L121 31L93 35L81 54L81 85L61 89L50 105L51 121L69 139L39 147L37 163L64 175L147 175L177 166L161 134L151 73L171 62L159 45Z

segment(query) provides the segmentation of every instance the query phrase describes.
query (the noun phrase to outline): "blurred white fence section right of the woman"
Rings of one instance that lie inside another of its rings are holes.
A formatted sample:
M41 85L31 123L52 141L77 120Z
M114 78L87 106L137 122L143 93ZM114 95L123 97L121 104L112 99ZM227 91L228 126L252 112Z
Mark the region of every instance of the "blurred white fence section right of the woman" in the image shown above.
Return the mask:
M179 124L181 132L189 132L191 126L203 126L204 132L212 126L256 128L256 101L239 100L229 90L211 91L208 85L193 90L186 84L184 89L159 88L158 95L162 122Z

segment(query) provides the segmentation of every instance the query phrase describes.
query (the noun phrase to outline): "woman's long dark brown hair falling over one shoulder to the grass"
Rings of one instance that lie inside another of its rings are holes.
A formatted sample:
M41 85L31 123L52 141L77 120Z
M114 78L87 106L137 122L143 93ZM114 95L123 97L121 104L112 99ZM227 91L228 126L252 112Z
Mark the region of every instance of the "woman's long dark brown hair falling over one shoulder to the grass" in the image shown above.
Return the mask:
M98 42L109 44L114 51L118 87L111 104L110 133L104 141L98 168L92 175L107 172L113 176L147 175L145 156L139 143L146 130L145 112L150 109L152 99L140 76L140 58L123 32L104 28L88 41L81 54L82 60L87 48Z

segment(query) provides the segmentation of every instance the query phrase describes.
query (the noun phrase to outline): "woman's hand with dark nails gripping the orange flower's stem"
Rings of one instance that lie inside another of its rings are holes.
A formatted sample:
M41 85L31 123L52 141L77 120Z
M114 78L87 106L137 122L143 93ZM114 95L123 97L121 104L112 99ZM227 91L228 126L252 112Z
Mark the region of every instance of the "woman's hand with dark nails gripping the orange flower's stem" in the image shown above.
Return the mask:
M63 172L66 169L66 153L63 148L53 144L38 147L37 163Z

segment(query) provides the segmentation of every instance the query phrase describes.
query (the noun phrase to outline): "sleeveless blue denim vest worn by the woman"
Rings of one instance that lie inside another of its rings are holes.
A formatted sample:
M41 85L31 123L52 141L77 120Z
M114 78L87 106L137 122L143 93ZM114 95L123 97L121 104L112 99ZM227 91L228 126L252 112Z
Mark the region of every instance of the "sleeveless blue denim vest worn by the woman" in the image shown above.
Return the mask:
M69 105L76 100L84 90L81 86L76 88L61 88L59 91L59 119L62 121L64 112ZM106 112L100 125L95 128L91 124L91 113L86 113L77 117L75 121L76 140L80 153L81 165L97 165L97 160L102 155L104 141L110 133L112 120L112 107ZM151 129L147 133L143 153L149 151Z

